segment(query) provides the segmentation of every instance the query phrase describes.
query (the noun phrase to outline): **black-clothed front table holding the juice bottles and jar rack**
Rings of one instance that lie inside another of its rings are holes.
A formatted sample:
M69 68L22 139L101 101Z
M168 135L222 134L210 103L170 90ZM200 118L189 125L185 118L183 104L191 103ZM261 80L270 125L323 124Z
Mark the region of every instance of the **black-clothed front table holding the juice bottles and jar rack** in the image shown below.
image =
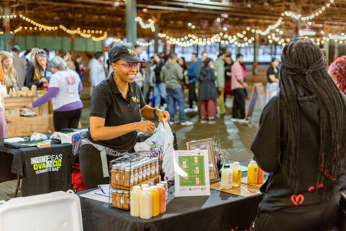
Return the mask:
M248 161L240 163L247 166ZM246 176L246 172L242 176ZM265 174L265 178L267 174ZM80 191L83 194L91 190ZM143 220L129 211L111 209L107 203L80 197L84 231L251 230L262 194L242 197L210 190L210 196L175 197L169 188L166 212Z

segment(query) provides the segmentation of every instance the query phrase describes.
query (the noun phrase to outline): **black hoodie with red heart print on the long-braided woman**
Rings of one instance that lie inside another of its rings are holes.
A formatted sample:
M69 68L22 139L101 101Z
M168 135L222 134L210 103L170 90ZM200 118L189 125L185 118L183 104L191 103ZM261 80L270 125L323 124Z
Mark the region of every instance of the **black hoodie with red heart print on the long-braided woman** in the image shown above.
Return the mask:
M298 106L300 121L300 140L298 155L298 193L287 184L288 177L280 167L278 157L278 103L279 97L274 96L263 109L260 128L252 142L251 150L255 154L258 166L270 173L266 183L261 187L264 197L259 206L267 211L282 210L286 212L306 212L323 209L338 203L340 200L338 188L327 193L324 201L317 193L322 184L318 183L321 168L318 163L320 147L320 117L317 96L300 84L298 89ZM341 92L340 92L341 93ZM342 93L341 93L342 94ZM346 96L342 94L346 102ZM280 127L283 127L280 118ZM283 149L283 134L281 134L281 155Z

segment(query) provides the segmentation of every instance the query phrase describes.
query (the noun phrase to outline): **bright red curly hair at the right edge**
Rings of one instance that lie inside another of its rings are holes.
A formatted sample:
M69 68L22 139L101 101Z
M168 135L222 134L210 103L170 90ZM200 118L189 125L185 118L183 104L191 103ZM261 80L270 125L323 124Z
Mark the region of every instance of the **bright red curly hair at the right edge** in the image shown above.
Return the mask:
M330 64L329 71L335 75L340 91L346 94L346 55L338 57Z

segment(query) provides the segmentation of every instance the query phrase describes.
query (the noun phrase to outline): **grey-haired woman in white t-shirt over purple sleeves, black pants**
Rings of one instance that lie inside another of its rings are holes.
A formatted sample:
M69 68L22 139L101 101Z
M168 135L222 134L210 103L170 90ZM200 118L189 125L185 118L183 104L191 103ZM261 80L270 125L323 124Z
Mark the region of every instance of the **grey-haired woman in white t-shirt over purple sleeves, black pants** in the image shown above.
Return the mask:
M26 108L35 108L52 100L55 131L63 128L78 128L83 104L78 92L82 90L79 75L66 68L63 59L55 56L51 61L54 73L49 81L48 91L41 98L29 103Z

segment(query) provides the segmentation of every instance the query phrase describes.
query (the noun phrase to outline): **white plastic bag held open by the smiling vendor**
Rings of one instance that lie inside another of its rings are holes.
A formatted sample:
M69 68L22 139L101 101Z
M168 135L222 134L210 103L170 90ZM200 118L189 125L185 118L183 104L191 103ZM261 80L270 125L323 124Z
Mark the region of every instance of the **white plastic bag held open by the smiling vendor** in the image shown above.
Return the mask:
M162 150L163 160L162 168L165 173L167 180L170 180L174 177L174 165L173 165L173 141L174 136L171 131L171 128L168 123L158 124L157 132L149 137L147 140L135 145L135 150L149 150L153 144L156 144L156 147Z

